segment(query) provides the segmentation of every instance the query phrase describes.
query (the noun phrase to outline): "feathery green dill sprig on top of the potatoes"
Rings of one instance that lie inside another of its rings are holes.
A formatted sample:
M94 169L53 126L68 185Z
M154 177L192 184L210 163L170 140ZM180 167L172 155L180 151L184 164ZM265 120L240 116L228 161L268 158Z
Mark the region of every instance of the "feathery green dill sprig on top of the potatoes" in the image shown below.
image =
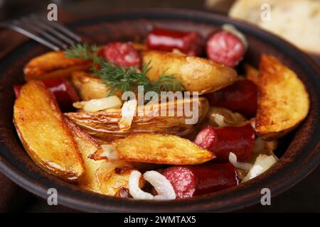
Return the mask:
M137 67L120 67L117 63L106 62L104 58L97 55L98 51L99 48L96 45L77 44L65 50L65 56L91 60L93 76L99 77L104 84L110 87L109 95L114 90L127 92L136 90L138 86L144 86L144 92L153 91L158 94L183 89L183 84L174 80L174 74L166 74L166 70L162 72L158 80L150 82L146 77L147 72L151 70L150 62L142 65L141 71Z

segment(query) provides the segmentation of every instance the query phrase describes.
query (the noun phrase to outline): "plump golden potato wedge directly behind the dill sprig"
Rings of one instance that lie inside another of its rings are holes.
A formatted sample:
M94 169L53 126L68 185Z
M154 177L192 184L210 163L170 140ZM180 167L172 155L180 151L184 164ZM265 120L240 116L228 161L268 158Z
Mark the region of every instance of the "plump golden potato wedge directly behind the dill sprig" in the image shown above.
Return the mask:
M166 70L166 74L174 74L188 92L215 92L232 84L238 77L232 68L201 57L156 50L146 51L142 56L143 63L150 62L152 67L146 74L151 81L159 79Z

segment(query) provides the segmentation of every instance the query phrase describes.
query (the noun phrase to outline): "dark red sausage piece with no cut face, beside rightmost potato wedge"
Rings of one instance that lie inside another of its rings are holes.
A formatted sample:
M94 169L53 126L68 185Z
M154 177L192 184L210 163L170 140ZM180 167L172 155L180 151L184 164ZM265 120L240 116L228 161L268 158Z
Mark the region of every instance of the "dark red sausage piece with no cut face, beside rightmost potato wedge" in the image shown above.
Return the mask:
M211 106L220 106L253 117L257 114L257 84L239 79L228 87L207 94Z

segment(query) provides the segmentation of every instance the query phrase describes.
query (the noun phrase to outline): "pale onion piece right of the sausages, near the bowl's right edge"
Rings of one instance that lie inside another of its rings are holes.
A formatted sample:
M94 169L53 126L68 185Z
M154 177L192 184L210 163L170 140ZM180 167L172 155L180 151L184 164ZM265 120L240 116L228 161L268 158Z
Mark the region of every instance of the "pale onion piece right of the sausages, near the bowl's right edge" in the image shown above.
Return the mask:
M277 162L277 157L274 155L259 155L253 164L251 170L247 173L247 176L242 179L243 182L247 182L249 179L261 175L263 172L268 170L274 163Z

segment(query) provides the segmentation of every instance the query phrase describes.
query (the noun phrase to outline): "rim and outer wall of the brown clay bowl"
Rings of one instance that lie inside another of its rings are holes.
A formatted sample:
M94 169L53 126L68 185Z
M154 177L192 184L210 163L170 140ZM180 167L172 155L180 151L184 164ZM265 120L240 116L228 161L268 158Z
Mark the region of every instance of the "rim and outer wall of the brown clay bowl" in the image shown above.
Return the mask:
M146 20L178 20L186 19L196 23L211 23L222 24L232 23L237 26L240 31L254 35L264 42L269 42L277 45L282 51L286 52L294 61L299 62L301 67L307 67L309 74L308 79L312 81L312 86L320 84L320 70L316 64L306 56L302 51L290 45L285 40L278 38L271 33L260 30L255 26L242 21L236 21L226 16L219 14L207 13L204 11L193 11L185 9L144 9L130 11L114 11L107 13L105 16L87 19L73 23L70 26L85 26L87 24L100 23L103 21L119 21L144 18ZM10 60L26 47L27 45L36 46L33 41L28 41L15 50L10 52L0 62L0 73L8 68ZM279 50L280 51L280 50ZM0 77L1 78L1 77ZM311 96L311 105L313 105L313 116L319 114L319 91L315 96ZM309 117L309 116L308 116ZM277 165L274 165L270 170L263 175L252 179L250 182L240 184L238 187L226 189L213 194L196 196L191 199L181 199L175 201L135 201L132 199L120 199L111 196L104 196L93 192L87 192L73 184L63 182L57 177L50 176L46 173L41 173L41 176L31 170L29 172L21 171L21 163L17 163L14 159L5 159L0 155L0 170L11 180L16 182L29 192L36 194L43 199L47 199L47 190L50 187L55 187L58 190L58 204L68 206L81 211L107 211L107 212L188 212L188 211L234 211L242 209L252 204L257 204L260 201L260 189L269 187L272 191L272 197L289 189L297 182L301 181L319 164L320 161L320 124L319 118L314 118L314 127L306 129L309 133L309 140L302 145L304 152L300 152L294 156L294 162L290 160L292 157L287 157L286 153L279 160ZM1 126L0 126L1 128ZM299 127L301 131L303 127ZM310 136L310 134L314 136ZM294 140L297 140L295 137ZM14 142L16 143L16 142ZM21 144L16 144L20 146ZM6 140L0 141L1 152L10 152L6 145ZM20 148L23 149L23 148ZM289 149L289 148L288 148ZM1 154L1 153L0 153ZM44 171L43 171L44 172Z

